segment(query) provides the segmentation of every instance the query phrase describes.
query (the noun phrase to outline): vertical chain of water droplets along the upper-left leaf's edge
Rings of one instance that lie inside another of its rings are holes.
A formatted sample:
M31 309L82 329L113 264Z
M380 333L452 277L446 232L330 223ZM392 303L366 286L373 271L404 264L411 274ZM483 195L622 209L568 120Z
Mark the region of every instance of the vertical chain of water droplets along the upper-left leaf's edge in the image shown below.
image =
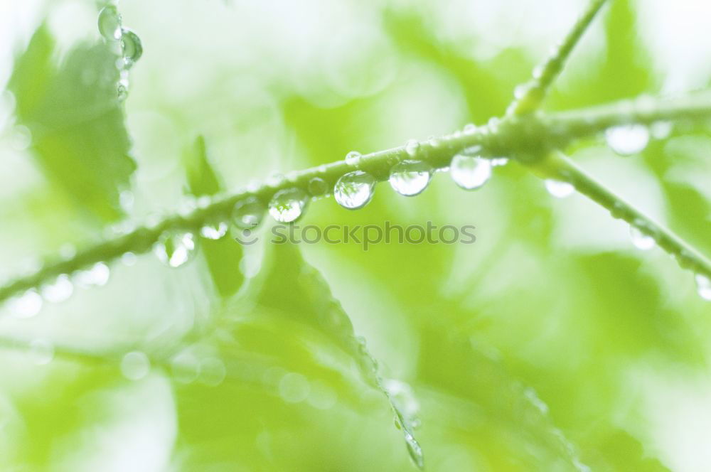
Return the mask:
M141 58L143 45L141 38L129 28L122 25L121 14L116 5L109 4L99 12L99 32L106 41L119 45L121 57L116 62L119 70L117 96L126 100L129 93L129 69Z

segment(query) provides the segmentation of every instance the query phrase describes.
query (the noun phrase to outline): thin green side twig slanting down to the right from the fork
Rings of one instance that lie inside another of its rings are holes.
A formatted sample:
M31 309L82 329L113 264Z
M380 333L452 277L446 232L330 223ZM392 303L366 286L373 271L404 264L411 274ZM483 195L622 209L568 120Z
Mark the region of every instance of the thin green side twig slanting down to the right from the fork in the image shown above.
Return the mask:
M543 177L571 183L579 193L609 210L614 218L624 220L643 234L653 237L661 249L675 257L680 267L711 278L711 261L707 257L589 176L564 154L550 154L547 159L535 164L535 170Z

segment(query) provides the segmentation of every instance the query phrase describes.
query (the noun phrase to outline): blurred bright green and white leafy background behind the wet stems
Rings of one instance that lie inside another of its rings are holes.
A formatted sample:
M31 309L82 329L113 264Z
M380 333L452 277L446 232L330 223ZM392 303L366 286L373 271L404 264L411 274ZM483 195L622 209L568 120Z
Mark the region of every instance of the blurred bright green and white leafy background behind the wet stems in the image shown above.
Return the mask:
M501 115L584 2L122 0L144 44L123 103L101 6L0 2L2 279L191 194ZM707 87L710 15L609 1L545 108ZM602 136L565 151L711 254L707 125L626 158ZM107 284L32 318L4 309L0 469L415 470L332 297L419 417L428 471L711 469L711 306L673 259L516 163L471 193L439 173L355 212L324 198L301 223L386 220L476 225L477 241L228 236L178 269L109 262Z

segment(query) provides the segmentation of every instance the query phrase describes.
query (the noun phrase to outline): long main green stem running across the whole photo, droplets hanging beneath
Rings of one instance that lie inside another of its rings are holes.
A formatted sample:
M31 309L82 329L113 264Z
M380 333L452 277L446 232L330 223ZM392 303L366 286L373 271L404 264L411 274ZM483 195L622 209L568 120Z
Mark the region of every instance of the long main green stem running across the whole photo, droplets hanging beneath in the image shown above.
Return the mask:
M648 124L660 120L680 119L711 119L711 94L695 94L673 100L647 97L570 112L506 117L477 127L473 132L455 132L434 141L422 141L416 156L407 154L405 146L365 154L357 168L371 173L378 181L385 181L390 175L390 168L405 159L414 157L428 161L434 168L444 168L449 166L454 154L476 145L481 145L490 157L511 156L533 165L550 154L552 149L561 149L574 139L594 136L616 124ZM126 235L87 247L71 259L50 259L37 272L18 277L1 286L0 302L41 286L61 274L72 274L97 262L110 262L127 252L149 252L166 231L197 232L206 222L215 218L229 220L235 203L245 198L254 196L267 203L274 193L284 188L301 188L308 191L309 181L314 177L324 179L329 188L333 188L338 178L355 168L356 166L349 165L346 161L338 161L290 173L279 183L216 198L189 215L171 215L156 225L139 227Z

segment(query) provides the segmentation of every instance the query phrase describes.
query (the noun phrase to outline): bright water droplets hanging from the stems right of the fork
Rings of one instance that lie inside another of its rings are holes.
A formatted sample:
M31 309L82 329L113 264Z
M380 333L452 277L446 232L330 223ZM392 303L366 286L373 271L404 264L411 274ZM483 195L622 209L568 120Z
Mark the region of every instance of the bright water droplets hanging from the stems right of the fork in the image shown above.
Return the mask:
M632 156L643 151L651 139L666 139L670 135L673 124L670 122L654 122L650 126L643 124L621 124L605 130L607 146L620 156ZM550 195L556 198L565 198L572 195L575 187L567 181L547 179L545 188ZM618 203L611 210L614 218L622 218L625 213L624 205ZM638 250L648 251L656 247L658 235L653 225L645 220L634 220L629 226L629 235L632 245ZM687 265L685 258L688 254L680 254L678 262L682 267ZM702 299L711 301L711 279L704 274L695 274L697 293Z

